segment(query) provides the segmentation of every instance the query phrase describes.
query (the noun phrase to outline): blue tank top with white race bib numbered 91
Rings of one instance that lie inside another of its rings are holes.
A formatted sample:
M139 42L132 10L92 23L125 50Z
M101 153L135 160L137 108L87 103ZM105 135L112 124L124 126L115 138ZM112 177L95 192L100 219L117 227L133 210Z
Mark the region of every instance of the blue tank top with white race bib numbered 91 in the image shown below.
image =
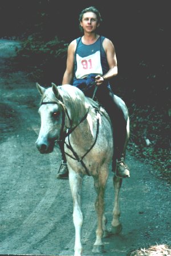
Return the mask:
M77 46L74 54L74 74L75 78L85 78L89 74L103 74L109 70L107 57L103 48L105 37L100 36L91 45L84 45L82 38L76 39Z

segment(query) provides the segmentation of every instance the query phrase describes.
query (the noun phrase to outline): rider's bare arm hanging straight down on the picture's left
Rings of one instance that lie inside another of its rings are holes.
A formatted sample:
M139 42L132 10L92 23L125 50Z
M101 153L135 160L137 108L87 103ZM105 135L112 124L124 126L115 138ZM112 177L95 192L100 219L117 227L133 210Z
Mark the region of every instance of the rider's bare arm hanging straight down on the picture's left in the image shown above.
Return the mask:
M67 68L64 72L62 85L64 84L71 84L73 74L74 74L74 52L76 48L76 40L72 41L71 44L68 46L68 53L67 53Z

